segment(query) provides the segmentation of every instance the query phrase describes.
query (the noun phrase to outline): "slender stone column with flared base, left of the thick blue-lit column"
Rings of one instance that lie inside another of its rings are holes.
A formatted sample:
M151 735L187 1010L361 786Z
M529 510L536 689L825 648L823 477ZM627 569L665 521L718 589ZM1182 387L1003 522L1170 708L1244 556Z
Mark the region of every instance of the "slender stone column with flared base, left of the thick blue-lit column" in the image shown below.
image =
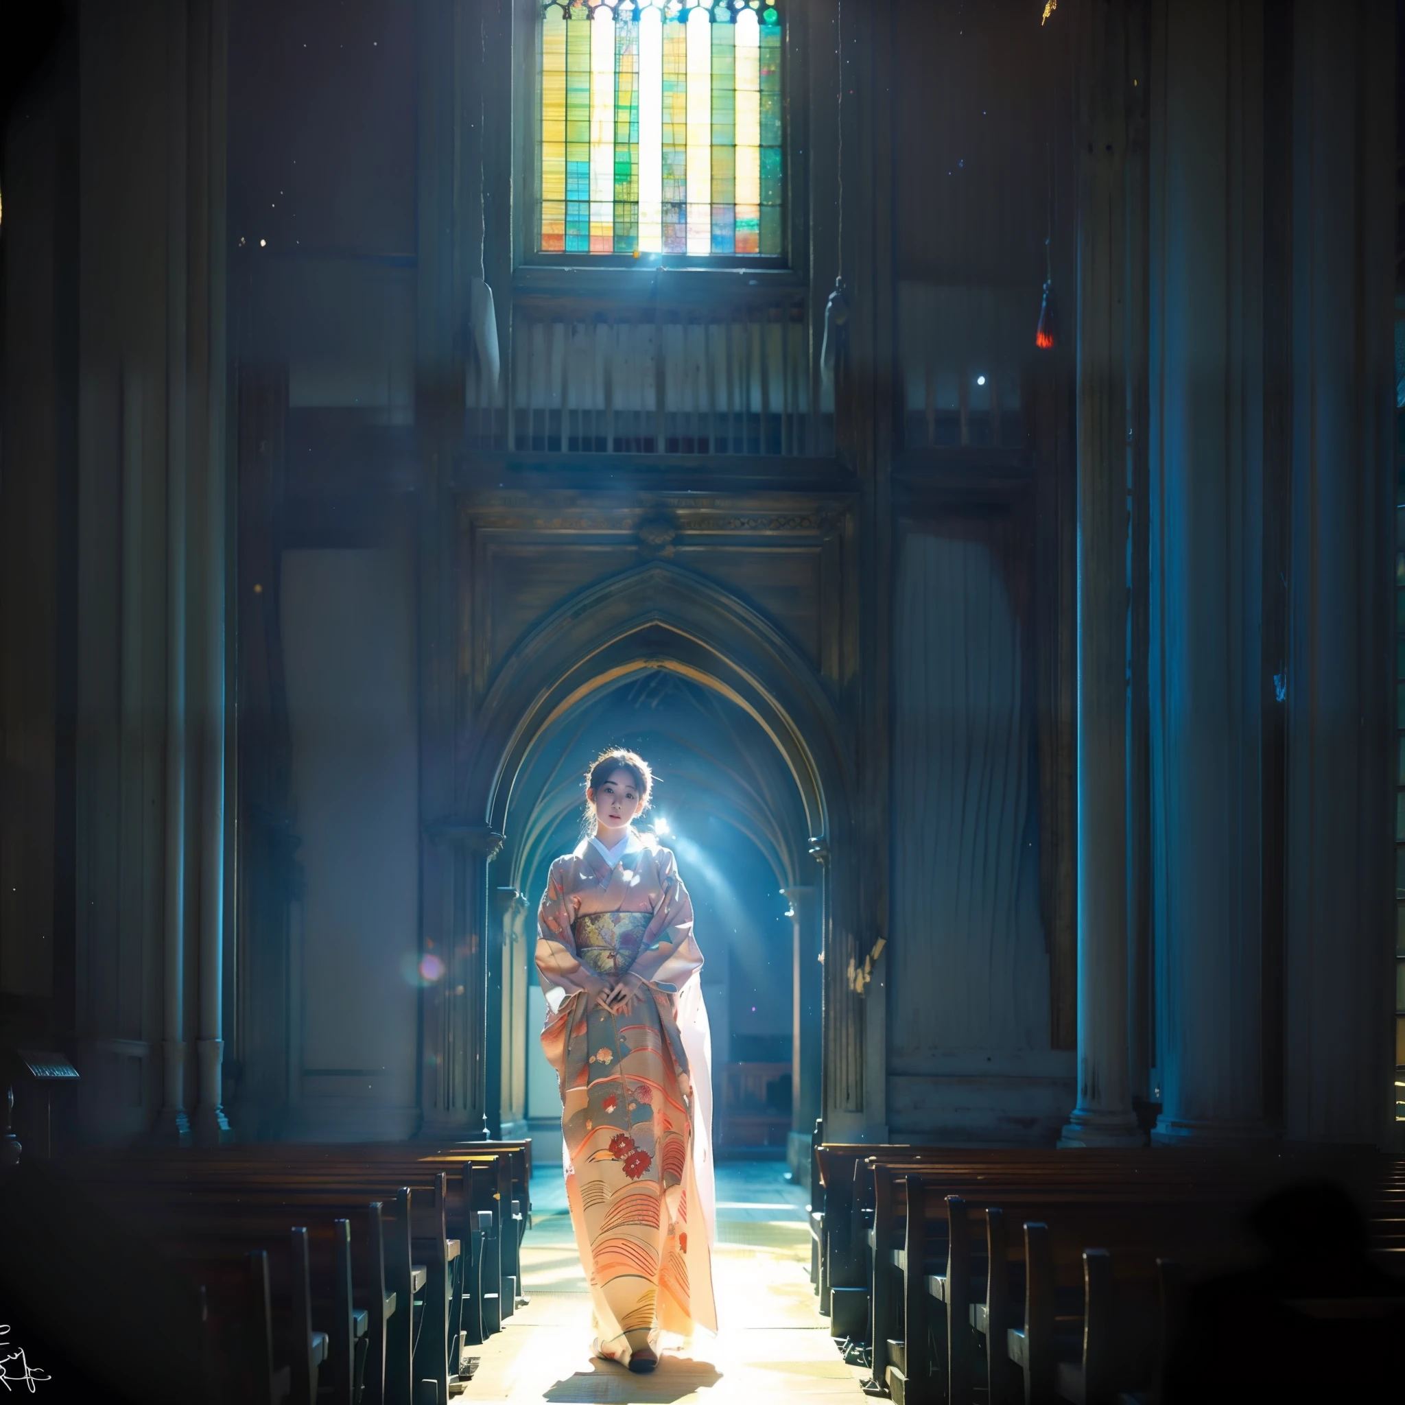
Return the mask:
M1141 1142L1127 1064L1125 15L1080 18L1078 1106L1062 1146Z

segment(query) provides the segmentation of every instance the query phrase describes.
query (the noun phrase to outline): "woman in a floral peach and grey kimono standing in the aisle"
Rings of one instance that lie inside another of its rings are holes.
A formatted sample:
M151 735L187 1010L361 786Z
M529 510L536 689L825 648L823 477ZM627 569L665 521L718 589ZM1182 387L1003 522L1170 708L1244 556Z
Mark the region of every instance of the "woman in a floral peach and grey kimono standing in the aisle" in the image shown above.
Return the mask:
M717 1331L702 954L673 854L632 825L652 788L634 752L590 767L587 833L551 865L537 940L593 1350L631 1371L663 1333Z

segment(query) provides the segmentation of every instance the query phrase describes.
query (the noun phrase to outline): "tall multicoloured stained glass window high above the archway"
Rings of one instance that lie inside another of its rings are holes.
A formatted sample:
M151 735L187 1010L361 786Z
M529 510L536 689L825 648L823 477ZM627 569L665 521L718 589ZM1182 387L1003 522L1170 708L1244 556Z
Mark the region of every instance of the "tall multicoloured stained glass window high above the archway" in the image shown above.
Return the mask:
M542 253L783 253L769 0L542 0Z

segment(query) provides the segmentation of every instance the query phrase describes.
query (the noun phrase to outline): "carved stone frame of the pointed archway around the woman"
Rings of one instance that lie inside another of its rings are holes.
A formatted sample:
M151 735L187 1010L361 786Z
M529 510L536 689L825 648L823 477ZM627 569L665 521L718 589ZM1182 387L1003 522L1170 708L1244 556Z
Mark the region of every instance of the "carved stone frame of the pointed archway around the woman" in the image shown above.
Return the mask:
M666 670L726 697L784 762L804 809L805 849L818 863L823 974L823 1100L863 1109L863 1000L854 960L856 881L851 746L835 700L809 660L750 604L705 576L655 561L590 586L547 615L511 652L464 722L457 815L431 826L445 885L444 978L424 991L426 1134L476 1132L496 1099L489 1075L497 1017L489 975L502 915L490 865L503 843L513 787L532 746L603 688ZM429 870L437 870L431 875Z

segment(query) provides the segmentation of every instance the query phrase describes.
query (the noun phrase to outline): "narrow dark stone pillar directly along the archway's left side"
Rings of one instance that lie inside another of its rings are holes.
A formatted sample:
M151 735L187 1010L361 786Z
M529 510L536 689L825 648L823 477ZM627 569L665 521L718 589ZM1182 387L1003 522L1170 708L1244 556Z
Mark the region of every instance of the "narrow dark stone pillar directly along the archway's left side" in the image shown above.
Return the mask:
M457 811L466 763L458 711L461 499L452 478L464 443L462 329L483 250L479 10L440 0L413 6L420 813L433 840L422 865L422 922L423 957L444 968L424 989L422 1135L459 1138L486 1130L488 941L496 940L488 865L503 842L482 819Z

